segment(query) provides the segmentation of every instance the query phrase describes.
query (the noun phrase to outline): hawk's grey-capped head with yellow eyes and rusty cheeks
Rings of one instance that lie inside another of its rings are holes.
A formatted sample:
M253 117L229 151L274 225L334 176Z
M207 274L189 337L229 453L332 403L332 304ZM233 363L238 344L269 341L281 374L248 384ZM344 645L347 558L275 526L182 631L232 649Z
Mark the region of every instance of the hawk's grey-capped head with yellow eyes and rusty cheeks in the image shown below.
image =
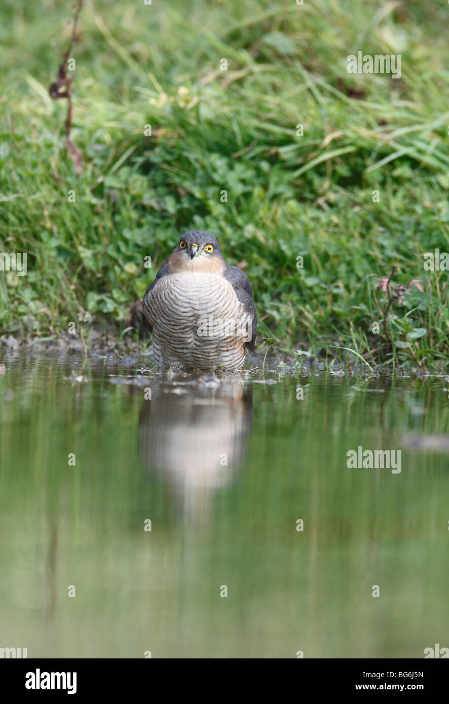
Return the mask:
M224 268L219 241L209 232L202 230L184 232L168 260L168 265L171 272L219 274Z

